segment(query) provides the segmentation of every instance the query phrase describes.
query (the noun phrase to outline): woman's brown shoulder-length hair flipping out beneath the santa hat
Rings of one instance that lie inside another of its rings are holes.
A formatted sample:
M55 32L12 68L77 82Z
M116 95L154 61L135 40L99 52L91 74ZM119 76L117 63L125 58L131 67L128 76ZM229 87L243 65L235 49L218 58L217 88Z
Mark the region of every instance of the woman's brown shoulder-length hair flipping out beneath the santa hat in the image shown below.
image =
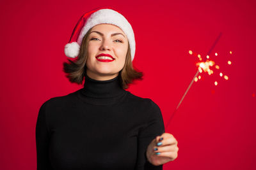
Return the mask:
M75 60L68 59L69 63L63 62L63 71L66 74L66 77L69 79L71 83L82 84L84 80L84 76L86 74L86 60L88 57L88 35L90 34L92 28L85 34L83 41L81 43L81 47L79 50L79 55ZM132 83L136 79L143 80L143 73L137 71L132 66L131 60L131 50L128 42L128 50L125 57L125 64L123 69L119 72L120 74L120 85L123 89L128 89L129 84Z

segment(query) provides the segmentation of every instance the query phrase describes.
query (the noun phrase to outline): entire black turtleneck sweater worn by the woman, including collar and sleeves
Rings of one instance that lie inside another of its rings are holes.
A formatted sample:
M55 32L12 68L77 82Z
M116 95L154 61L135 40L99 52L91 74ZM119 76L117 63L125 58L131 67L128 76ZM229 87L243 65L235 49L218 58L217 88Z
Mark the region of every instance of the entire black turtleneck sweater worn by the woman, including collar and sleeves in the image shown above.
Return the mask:
M52 97L36 121L37 169L163 169L146 157L164 131L161 110L111 80L86 75L83 89Z

